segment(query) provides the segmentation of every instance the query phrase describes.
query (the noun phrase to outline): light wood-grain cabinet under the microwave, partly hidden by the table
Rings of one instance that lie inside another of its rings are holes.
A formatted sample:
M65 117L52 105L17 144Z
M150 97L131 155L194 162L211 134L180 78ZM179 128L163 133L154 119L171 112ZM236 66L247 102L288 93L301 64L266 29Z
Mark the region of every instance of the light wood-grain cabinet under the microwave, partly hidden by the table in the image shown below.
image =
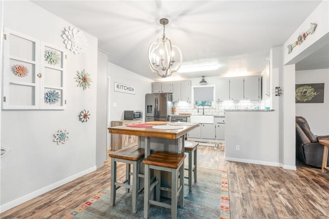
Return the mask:
M112 121L111 126L125 126L142 123L142 120L119 120ZM138 144L138 136L126 134L111 134L111 150L116 151L124 147L132 147Z

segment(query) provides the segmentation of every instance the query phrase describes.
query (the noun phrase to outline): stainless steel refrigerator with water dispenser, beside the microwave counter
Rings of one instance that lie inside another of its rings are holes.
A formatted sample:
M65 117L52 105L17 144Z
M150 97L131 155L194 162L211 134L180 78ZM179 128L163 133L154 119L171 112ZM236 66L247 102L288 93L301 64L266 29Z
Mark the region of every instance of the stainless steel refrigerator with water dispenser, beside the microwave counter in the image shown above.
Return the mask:
M173 113L172 93L145 94L145 122L168 121Z

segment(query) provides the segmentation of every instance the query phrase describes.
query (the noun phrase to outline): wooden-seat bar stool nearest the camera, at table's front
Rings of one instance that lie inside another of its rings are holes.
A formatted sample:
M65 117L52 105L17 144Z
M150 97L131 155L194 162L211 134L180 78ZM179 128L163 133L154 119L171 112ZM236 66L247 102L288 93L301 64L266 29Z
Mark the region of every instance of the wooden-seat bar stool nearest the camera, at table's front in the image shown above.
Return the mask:
M177 218L177 199L184 208L184 153L155 151L143 160L144 173L144 218L149 217L150 204L171 209L171 218ZM151 169L155 173L155 182L150 185ZM161 171L171 172L171 188L161 186ZM178 181L179 180L179 181ZM156 200L150 200L150 194L156 189ZM160 190L171 192L171 204L160 202Z

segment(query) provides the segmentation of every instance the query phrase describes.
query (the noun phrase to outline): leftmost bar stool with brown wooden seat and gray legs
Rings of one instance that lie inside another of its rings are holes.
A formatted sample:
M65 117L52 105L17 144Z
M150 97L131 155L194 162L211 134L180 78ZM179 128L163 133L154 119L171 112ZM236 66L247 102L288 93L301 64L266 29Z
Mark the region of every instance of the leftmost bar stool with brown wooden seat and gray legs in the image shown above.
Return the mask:
M110 152L111 157L111 206L115 206L116 191L121 186L126 188L128 193L131 189L133 192L133 213L137 212L137 195L143 188L139 190L139 174L140 163L144 158L144 149L136 147L125 147L117 151ZM124 182L117 182L117 162L126 164L125 167L125 180ZM130 165L133 165L133 172L130 170ZM131 184L130 176L133 175L133 182Z

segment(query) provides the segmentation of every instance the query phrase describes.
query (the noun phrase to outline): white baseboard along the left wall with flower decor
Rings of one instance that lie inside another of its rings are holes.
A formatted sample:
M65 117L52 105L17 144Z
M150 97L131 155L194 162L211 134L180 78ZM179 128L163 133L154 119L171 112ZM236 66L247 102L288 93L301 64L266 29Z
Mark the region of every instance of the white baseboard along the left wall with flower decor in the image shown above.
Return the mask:
M0 206L0 213L2 213L4 211L7 211L7 210L9 210L9 209L11 209L13 207L16 207L16 206L18 206L18 205L20 205L20 204L22 204L24 202L27 202L27 201L31 200L32 198L35 198L35 197L37 197L39 195L42 195L42 194L44 194L44 193L46 193L46 192L48 192L48 191L50 191L52 189L56 189L56 188L64 185L65 183L71 182L72 180L75 180L76 178L79 178L80 176L83 176L85 174L88 174L90 172L93 172L96 169L97 169L96 166L94 166L92 168L89 168L89 169L86 169L84 171L81 171L81 172L79 172L77 174L74 174L74 175L71 175L71 176L69 176L67 178L64 178L63 180L60 180L60 181L58 181L56 183L50 184L49 186L46 186L46 187L44 187L42 189L36 190L36 191L31 192L29 194L26 194L26 195L24 195L22 197L16 198L13 201L7 202L6 204L3 204L3 205Z

